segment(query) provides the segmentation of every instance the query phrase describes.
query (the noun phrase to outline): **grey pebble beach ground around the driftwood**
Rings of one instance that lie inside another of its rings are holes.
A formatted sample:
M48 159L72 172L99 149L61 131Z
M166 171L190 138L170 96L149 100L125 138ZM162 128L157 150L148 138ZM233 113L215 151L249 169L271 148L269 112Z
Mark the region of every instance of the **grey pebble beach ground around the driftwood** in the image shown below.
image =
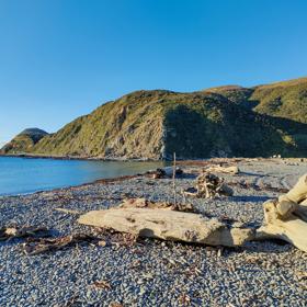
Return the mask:
M307 172L298 160L242 160L239 168L240 174L225 175L232 197L189 202L212 216L259 226L262 203ZM194 178L178 179L178 192L192 186ZM1 197L0 226L46 226L54 236L90 234L90 227L77 224L78 216L55 208L88 212L124 197L168 201L171 195L171 180L140 177ZM307 254L280 241L220 250L146 239L31 257L22 253L21 242L0 242L0 306L307 306ZM96 287L96 282L110 286Z

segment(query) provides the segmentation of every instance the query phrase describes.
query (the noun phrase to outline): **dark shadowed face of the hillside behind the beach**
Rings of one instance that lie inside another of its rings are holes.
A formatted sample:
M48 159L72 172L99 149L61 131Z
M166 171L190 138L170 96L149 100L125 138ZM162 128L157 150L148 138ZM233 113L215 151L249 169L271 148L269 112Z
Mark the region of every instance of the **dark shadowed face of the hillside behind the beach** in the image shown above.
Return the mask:
M166 120L167 152L184 158L307 155L307 125L257 114L218 95L175 104Z

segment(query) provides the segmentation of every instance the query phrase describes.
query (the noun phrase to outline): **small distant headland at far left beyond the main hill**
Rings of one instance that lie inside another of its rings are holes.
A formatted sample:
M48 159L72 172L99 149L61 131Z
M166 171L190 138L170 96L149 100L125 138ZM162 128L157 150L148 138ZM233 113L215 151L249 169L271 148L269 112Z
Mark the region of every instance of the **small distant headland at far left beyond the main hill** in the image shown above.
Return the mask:
M5 144L0 154L30 152L34 145L48 134L38 128L27 128L16 135L10 143Z

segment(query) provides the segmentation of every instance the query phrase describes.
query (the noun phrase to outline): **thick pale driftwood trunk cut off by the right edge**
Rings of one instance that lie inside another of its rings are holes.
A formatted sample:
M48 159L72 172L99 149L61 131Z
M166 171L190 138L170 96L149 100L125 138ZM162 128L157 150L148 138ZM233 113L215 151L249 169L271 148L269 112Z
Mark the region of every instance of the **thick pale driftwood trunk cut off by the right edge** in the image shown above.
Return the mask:
M307 252L307 174L278 200L263 204L265 225L258 229L257 238L277 238Z

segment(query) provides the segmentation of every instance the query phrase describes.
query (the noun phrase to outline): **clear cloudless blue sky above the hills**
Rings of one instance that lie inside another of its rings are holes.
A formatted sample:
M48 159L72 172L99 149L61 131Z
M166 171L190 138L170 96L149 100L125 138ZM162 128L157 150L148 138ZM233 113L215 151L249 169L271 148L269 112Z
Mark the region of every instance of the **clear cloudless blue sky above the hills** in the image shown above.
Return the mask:
M306 0L0 0L0 143L139 89L307 75Z

